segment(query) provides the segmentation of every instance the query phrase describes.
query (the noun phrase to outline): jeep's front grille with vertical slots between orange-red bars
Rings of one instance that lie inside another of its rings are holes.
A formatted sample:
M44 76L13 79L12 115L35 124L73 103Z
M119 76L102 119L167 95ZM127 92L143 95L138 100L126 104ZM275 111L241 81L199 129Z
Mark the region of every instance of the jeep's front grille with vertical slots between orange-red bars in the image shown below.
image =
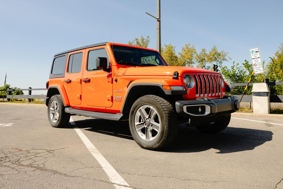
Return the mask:
M197 97L213 97L221 94L220 76L215 74L192 74Z

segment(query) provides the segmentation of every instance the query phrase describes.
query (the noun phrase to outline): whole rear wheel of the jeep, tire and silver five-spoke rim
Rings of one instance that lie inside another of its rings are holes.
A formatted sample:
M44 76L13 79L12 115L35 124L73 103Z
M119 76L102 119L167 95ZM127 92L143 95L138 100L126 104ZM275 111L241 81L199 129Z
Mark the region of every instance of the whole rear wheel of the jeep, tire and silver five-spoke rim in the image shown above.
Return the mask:
M52 127L65 127L70 120L70 113L65 112L61 95L53 95L48 103L48 119Z

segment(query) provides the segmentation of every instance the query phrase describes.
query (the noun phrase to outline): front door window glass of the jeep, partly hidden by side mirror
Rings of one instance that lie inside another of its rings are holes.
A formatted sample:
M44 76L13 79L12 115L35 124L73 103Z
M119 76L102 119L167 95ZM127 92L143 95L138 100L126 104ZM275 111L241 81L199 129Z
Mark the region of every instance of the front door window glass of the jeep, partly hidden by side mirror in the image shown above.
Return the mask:
M105 57L108 61L108 67L110 65L109 58L105 48L90 50L88 52L88 63L87 63L87 70L94 71L94 70L102 70L101 68L96 68L96 57Z

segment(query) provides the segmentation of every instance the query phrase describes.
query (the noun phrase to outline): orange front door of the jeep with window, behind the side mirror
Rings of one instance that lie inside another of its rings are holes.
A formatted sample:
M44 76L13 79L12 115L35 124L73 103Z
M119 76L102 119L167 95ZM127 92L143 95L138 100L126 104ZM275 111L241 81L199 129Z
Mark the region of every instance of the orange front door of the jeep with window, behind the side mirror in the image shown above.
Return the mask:
M111 107L112 98L112 71L107 72L96 68L96 57L105 57L108 67L111 67L106 48L94 48L85 51L86 66L82 77L82 98L89 106Z

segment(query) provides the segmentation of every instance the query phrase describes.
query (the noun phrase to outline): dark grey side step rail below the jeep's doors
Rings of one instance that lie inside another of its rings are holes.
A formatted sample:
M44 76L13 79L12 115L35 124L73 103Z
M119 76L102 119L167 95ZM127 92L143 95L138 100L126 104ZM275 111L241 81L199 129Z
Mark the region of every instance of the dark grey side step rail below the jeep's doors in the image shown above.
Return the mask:
M120 120L120 118L123 116L122 113L101 113L101 112L92 112L92 111L86 111L86 110L77 110L73 109L71 107L65 108L66 113L76 114L76 115L83 115L86 117L91 118L100 118L100 119L108 119L108 120Z

